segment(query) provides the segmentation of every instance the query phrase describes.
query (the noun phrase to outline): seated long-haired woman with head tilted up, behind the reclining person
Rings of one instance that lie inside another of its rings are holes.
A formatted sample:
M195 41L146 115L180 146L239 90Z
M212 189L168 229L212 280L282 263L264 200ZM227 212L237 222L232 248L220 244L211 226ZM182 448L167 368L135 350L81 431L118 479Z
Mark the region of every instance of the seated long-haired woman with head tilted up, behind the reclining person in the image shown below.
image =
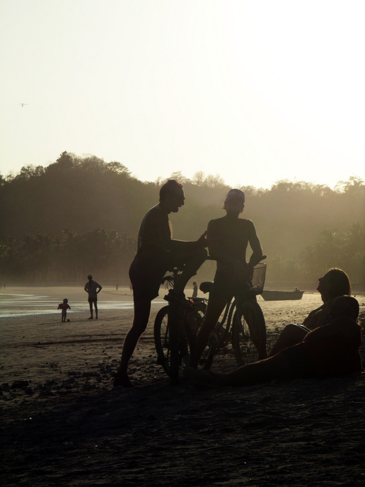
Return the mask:
M332 301L338 296L350 296L351 294L350 281L342 269L335 267L329 269L323 277L318 279L318 282L317 291L321 293L322 306L311 311L301 325L294 323L287 325L274 344L269 357L276 355L284 348L300 343L310 330L328 323L327 310Z

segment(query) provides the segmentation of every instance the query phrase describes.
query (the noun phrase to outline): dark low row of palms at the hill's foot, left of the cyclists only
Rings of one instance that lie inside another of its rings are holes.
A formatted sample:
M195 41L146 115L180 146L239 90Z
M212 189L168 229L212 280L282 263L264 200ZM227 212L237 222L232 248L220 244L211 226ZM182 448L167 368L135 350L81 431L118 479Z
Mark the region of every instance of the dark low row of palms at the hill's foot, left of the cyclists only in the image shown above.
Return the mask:
M129 235L103 228L80 234L65 229L55 238L36 233L18 241L2 239L1 277L4 282L72 283L92 273L100 281L126 282L135 249Z

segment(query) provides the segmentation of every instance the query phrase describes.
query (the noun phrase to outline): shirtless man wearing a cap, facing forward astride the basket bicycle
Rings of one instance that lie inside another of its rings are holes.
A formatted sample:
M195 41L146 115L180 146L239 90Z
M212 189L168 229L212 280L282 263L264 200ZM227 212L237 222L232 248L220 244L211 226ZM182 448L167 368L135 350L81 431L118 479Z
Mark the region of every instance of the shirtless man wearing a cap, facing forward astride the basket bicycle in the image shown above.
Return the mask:
M244 206L243 191L231 189L223 204L226 215L208 223L206 239L209 255L217 260L217 271L191 358L191 366L195 368L225 305L237 294L240 285L252 277L254 266L262 258L255 225L251 220L238 218ZM247 263L248 244L253 253Z

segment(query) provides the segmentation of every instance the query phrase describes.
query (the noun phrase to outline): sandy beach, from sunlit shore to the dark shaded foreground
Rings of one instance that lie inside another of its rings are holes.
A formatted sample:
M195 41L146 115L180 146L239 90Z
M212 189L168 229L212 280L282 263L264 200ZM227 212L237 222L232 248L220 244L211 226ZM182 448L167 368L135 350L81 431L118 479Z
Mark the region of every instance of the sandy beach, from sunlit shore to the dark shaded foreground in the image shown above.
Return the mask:
M61 323L56 307L65 297L72 310ZM356 297L364 318L365 298ZM133 316L128 288L103 288L98 320L87 319L82 288L1 289L2 485L364 485L364 375L172 387L153 344L162 298L130 362L136 387L125 390L112 388L112 372ZM259 302L269 348L285 324L321 303L315 292ZM361 354L365 362L364 344ZM212 370L234 367L228 352Z

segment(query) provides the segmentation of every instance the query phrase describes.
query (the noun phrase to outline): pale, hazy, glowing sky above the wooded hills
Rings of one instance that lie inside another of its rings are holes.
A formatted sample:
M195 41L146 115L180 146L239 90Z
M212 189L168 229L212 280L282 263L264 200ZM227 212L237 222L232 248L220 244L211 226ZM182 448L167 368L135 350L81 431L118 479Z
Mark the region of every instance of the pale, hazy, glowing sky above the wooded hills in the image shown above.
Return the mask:
M0 173L365 179L365 1L0 0ZM27 105L21 107L19 103Z

